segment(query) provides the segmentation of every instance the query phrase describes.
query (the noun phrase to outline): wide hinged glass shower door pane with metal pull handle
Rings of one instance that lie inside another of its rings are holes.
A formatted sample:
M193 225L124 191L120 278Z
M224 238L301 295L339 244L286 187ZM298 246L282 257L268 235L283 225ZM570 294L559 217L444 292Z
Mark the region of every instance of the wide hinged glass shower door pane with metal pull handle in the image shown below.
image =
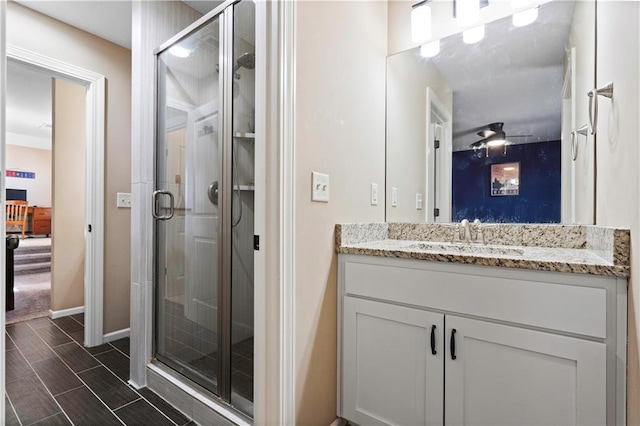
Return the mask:
M219 393L220 19L157 55L156 357Z

